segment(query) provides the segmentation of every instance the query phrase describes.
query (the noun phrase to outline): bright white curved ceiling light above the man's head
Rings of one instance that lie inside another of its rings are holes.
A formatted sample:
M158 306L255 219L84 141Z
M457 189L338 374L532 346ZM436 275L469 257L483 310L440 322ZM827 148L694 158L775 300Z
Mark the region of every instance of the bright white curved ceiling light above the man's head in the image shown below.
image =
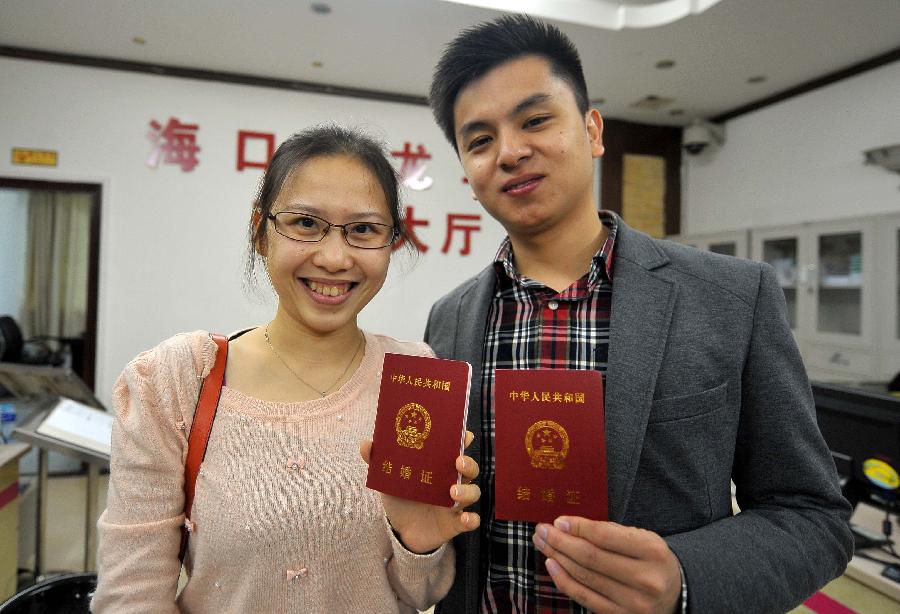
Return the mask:
M444 0L509 13L527 13L583 26L655 28L699 15L721 0Z

